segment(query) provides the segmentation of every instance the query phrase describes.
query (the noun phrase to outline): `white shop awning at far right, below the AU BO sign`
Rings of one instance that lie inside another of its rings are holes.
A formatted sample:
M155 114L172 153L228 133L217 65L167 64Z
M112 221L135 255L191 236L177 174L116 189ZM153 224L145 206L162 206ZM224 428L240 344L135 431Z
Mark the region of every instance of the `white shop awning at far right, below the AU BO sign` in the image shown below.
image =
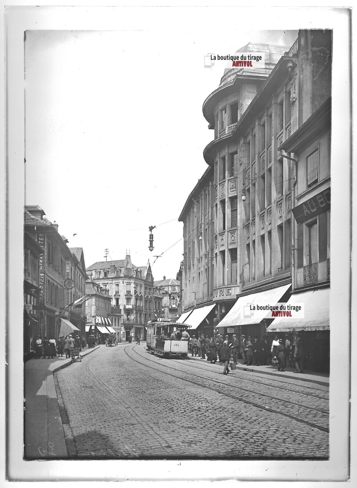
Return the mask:
M295 303L304 304L304 318L277 317L267 328L268 332L330 329L330 288L294 293L288 304Z

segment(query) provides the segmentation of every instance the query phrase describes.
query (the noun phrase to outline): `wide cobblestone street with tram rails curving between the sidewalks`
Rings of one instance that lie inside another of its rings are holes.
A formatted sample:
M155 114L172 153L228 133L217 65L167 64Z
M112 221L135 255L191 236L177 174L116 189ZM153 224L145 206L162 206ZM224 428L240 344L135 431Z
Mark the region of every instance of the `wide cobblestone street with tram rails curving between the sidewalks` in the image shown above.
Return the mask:
M58 371L68 456L328 458L328 387L103 347Z

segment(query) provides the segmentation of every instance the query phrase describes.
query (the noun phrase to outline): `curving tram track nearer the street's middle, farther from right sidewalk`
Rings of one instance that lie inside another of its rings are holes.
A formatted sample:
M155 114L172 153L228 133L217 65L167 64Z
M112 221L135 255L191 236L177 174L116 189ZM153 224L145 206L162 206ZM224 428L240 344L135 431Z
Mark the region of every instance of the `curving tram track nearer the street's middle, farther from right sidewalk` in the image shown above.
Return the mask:
M127 352L127 349L129 348L129 346L126 346L124 347L124 352L126 354L126 356L128 358L130 358L132 361L135 361L136 363L138 364L141 364L142 366L145 366L145 367L149 367L150 369L155 369L156 371L158 370L157 368L155 368L154 366L148 366L147 364L143 363L142 361L139 361L138 359L136 358L133 358L129 355L129 353ZM133 353L137 356L139 356L141 359L143 359L144 361L148 362L148 363L153 363L157 366L164 366L164 365L160 365L158 362L156 361L153 361L151 359L149 359L148 357L145 357L145 356L142 356L141 354L139 354L136 350L135 350L135 347L131 347L130 348ZM186 365L185 365L186 366ZM188 366L188 365L187 365ZM175 368L173 366L169 366L167 364L165 364L164 366L166 369L170 369L170 370L173 370L173 371L176 371L180 374L189 374L189 375L192 375L193 376L193 373L190 373L190 372L185 372L185 371L182 371L178 368ZM193 367L193 365L191 366ZM196 367L196 369L203 369L203 368L200 368L200 367ZM204 369L205 371L207 371L206 369ZM239 386L236 386L236 385L229 385L230 387L234 387L235 389L240 389L240 390L243 390L245 391L246 393L250 393L251 396L255 396L255 397L267 397L269 398L270 400L273 400L273 401L276 401L278 402L278 405L277 407L283 407L282 408L271 408L271 407L268 407L268 406L264 406L262 405L262 402L260 401L259 403L259 400L256 398L256 401L252 401L252 400L248 400L246 398L243 398L242 396L239 396L239 395L234 395L234 394L231 394L227 391L222 391L222 389L226 389L227 388L227 383L224 383L224 382L221 382L221 381L218 381L218 380L214 380L214 379L208 379L207 377L204 377L204 376L197 376L197 374L195 374L195 379L199 378L200 381L195 381L195 380L192 380L192 379L189 379L189 378L178 378L177 375L171 373L171 372L168 372L168 371L162 371L160 370L161 373L164 373L168 376L171 376L171 377L174 377L176 379L180 379L182 381L185 381L187 383L190 383L192 385L196 385L196 386L201 386L201 387L205 387L207 389L210 389L216 393L220 393L224 396L227 396L227 397L230 397L234 400L238 400L240 402L243 402L247 405L251 405L251 406L254 406L254 407L257 407L259 409L262 409L264 411L269 411L271 413L274 413L274 414L278 414L278 415L282 415L284 417L288 417L290 419L293 419L295 422L299 422L299 423L303 423L305 425L308 425L310 427L314 427L314 428L317 428L319 430L322 430L324 432L329 432L329 428L328 427L325 427L325 425L319 425L319 424L316 424L315 422L311 422L309 420L305 420L303 418L301 418L301 415L305 415L305 417L309 417L312 416L311 412L318 412L320 415L321 415L321 420L323 421L324 424L327 424L328 425L328 421L329 421L329 418L328 418L328 412L325 411L325 410L321 410L321 409L318 409L318 408L315 408L315 407L309 407L309 406L301 406L300 404L298 404L297 402L292 402L292 401L289 401L289 400L282 400L281 398L276 398L276 397L272 397L271 395L267 395L267 394L262 394L262 393L257 393L257 392L252 392L251 390L247 390L247 389L244 389L244 388L241 388ZM214 383L215 385L218 386L218 388L213 388L212 386L209 386L209 385L205 385L203 382L210 382L210 383ZM264 402L263 402L264 403Z

